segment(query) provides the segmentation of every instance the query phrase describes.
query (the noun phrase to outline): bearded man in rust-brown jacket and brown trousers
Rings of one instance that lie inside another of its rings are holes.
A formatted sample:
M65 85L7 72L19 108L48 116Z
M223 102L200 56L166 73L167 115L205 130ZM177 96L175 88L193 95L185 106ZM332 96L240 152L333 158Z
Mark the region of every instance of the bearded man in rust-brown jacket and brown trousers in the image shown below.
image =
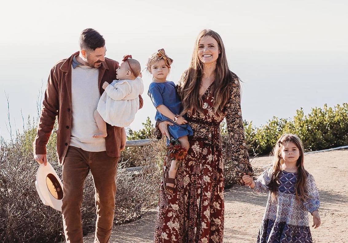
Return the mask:
M114 217L117 162L125 129L106 124L107 136L98 132L93 113L104 82L116 79L118 62L105 58L105 40L93 29L82 31L80 51L59 61L48 77L42 102L34 158L47 164L46 144L58 116L57 156L63 165L63 225L67 243L82 243L81 202L84 181L91 171L95 186L95 243L109 242ZM143 100L140 98L140 108Z

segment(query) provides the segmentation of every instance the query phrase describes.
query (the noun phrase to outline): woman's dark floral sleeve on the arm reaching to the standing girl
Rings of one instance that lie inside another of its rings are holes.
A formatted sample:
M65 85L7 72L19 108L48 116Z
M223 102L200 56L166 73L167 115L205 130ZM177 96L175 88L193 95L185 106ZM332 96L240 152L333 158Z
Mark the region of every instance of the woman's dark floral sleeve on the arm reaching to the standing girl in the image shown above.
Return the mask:
M249 154L245 143L242 110L240 108L240 84L235 78L231 83L229 101L225 106L227 130L231 144L231 162L236 168L235 181L240 183L243 173L253 175Z

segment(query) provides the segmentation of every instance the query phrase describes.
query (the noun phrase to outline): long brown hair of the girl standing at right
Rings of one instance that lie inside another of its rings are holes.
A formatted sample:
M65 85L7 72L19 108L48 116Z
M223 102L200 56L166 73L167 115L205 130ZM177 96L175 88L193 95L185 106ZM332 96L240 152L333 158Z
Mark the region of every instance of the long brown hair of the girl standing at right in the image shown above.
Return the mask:
M273 159L272 169L270 170L270 183L268 184L272 201L276 201L276 198L277 198L278 186L280 184L279 174L282 171L282 164L284 164L284 160L282 158L282 145L289 142L294 143L300 152L300 157L296 162L296 166L297 166L297 181L295 185L296 200L303 201L308 197L307 188L306 188L307 171L303 167L303 157L304 157L303 144L301 142L301 139L297 135L291 134L291 133L285 133L278 139L277 144L274 147L272 152L274 159Z

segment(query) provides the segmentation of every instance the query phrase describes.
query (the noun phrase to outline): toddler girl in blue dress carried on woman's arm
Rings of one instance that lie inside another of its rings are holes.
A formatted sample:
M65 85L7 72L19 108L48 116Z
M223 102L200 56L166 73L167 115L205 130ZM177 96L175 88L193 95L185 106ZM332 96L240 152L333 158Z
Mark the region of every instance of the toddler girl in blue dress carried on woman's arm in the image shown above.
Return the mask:
M157 53L150 56L147 69L153 78L149 86L148 95L157 109L155 120L157 122L170 121L173 123L173 125L168 126L168 130L174 141L171 140L171 137L168 137L167 145L170 142L171 145L176 145L170 148L179 149L177 145L180 142L181 147L187 151L189 149L188 136L193 135L193 132L192 128L187 124L187 120L179 115L182 108L179 95L175 91L175 84L172 81L167 81L167 75L169 74L172 62L173 59L166 55L164 49L158 50ZM179 142L176 144L175 140ZM169 149L169 154L172 154L172 152ZM185 156L185 153L183 154ZM178 156L174 157L178 158ZM178 167L179 161L174 159L169 172L163 173L163 187L168 195L173 195L174 178Z

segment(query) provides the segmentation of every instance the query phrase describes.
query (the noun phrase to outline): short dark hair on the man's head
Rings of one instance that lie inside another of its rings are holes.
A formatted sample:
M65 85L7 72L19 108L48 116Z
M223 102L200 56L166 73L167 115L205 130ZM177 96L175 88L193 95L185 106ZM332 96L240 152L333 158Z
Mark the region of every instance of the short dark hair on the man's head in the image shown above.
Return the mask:
M83 30L79 39L80 49L95 50L105 45L103 36L96 30L88 28Z

